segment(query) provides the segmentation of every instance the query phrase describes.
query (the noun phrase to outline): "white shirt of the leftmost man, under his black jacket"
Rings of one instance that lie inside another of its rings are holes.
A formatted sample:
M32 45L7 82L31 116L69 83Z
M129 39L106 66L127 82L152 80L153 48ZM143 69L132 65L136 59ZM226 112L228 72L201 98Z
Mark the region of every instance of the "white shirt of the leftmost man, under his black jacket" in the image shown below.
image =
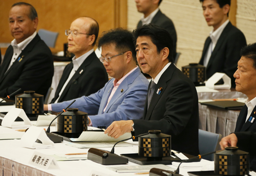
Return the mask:
M23 49L26 48L26 46L35 38L36 34L37 34L37 32L35 31L31 36L29 36L28 38L26 38L25 40L23 40L19 44L17 44L16 39L12 40L11 45L12 45L12 48L13 48L13 55L12 55L12 60L9 64L9 67L6 70L6 72L12 66L13 62L15 62L15 60L20 55L20 53L23 51Z

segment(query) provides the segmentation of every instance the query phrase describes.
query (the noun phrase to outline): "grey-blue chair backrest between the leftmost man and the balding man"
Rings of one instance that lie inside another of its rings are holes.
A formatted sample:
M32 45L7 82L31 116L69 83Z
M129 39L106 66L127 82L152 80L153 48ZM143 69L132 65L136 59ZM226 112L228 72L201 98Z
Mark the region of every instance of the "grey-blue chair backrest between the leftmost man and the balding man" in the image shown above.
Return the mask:
M58 32L47 31L45 29L39 29L38 35L47 46L54 48L58 37Z

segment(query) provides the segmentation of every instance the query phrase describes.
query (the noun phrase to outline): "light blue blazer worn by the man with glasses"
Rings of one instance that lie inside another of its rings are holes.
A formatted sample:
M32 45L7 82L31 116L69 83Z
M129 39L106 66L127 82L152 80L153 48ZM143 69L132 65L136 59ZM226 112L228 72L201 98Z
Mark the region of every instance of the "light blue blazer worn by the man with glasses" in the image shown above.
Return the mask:
M70 108L78 108L79 111L88 113L93 127L97 128L106 129L113 121L142 119L149 82L140 73L140 69L137 68L122 81L108 103L108 97L113 90L113 80L110 79L104 88L95 94L77 98ZM52 111L60 112L72 101L52 104ZM108 106L103 112L107 103Z

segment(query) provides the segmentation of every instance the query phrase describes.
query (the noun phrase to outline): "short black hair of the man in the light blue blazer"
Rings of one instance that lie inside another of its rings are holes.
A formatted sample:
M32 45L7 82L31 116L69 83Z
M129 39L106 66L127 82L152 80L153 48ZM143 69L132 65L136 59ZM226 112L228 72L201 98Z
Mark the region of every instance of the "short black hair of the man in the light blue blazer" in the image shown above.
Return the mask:
M130 31L127 31L123 28L115 28L109 31L104 31L98 40L98 48L109 44L116 45L116 51L119 51L120 53L131 51L132 57L136 62L133 35Z

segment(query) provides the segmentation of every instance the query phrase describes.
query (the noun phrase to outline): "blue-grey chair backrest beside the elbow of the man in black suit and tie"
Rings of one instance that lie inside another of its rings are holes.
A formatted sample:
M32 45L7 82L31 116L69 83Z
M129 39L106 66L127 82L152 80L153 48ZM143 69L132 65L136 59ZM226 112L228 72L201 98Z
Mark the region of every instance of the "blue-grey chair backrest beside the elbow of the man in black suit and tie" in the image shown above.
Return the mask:
M199 145L199 153L205 154L209 152L216 151L218 148L218 144L221 140L221 134L211 133L209 131L200 130L198 131L198 145ZM214 154L203 156L203 159L207 159L209 161L213 161Z

